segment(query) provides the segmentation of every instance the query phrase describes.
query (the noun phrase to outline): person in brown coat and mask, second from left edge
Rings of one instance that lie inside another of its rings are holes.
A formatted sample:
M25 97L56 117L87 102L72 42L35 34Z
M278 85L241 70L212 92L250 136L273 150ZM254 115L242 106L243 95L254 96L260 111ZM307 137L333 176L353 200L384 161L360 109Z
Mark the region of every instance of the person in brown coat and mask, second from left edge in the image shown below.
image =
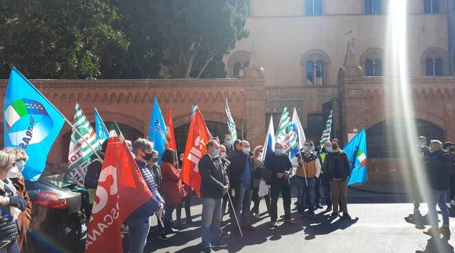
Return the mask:
M28 228L30 228L30 222L32 221L32 200L28 195L26 182L22 177L22 170L26 165L28 155L22 148L5 148L4 151L16 157L15 166L8 171L8 178L14 184L17 195L27 202L27 209L17 217L17 243L21 252L29 252L27 242L30 241L28 239L28 236L30 236L28 234Z

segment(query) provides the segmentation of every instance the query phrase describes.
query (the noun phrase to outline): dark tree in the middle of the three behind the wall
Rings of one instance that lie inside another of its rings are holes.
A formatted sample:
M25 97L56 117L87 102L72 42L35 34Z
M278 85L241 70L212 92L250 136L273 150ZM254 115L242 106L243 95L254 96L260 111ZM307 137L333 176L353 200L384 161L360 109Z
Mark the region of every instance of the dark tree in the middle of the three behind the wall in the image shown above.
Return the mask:
M128 50L110 50L112 62L102 67L108 78L158 78L164 63L163 39L157 28L151 0L110 0L120 19L114 27L123 31Z

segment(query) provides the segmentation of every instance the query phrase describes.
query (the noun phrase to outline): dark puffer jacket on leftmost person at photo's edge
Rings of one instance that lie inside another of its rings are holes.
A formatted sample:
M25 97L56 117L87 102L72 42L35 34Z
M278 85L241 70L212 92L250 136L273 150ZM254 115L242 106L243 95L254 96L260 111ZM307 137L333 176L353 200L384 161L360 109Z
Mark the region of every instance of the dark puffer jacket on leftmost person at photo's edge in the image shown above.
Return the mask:
M0 190L1 197L7 197L6 192ZM10 206L14 206L21 211L27 209L27 201L19 196L8 196ZM10 206L0 207L0 241L8 240L14 234L17 234L17 223L10 214Z

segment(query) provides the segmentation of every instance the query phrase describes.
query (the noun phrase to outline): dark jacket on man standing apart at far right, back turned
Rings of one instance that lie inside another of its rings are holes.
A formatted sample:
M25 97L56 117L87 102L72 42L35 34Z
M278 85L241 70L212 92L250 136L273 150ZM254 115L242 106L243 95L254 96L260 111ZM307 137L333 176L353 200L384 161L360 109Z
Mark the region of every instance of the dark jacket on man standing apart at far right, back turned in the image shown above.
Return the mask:
M428 186L435 190L449 190L450 157L445 151L434 151L425 162Z

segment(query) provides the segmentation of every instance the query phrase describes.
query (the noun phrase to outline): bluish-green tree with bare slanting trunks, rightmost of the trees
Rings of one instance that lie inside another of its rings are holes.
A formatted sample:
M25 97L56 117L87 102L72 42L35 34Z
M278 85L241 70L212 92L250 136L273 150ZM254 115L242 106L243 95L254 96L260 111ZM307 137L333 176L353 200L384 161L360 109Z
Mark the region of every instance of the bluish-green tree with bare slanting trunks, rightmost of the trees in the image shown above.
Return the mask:
M154 0L168 77L223 77L222 56L248 36L247 0ZM210 69L212 73L206 73Z

